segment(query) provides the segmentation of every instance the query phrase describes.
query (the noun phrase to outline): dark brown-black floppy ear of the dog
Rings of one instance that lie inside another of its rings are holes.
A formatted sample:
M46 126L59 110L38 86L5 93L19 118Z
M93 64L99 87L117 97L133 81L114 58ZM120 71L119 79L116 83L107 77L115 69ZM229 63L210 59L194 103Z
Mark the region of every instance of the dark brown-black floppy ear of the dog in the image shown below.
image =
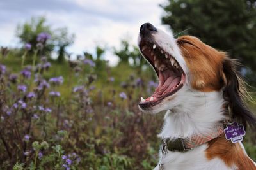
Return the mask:
M256 117L250 112L246 104L246 93L244 81L240 78L237 71L239 63L234 59L225 57L223 60L223 98L230 106L232 121L239 122L246 128L247 125L256 129Z

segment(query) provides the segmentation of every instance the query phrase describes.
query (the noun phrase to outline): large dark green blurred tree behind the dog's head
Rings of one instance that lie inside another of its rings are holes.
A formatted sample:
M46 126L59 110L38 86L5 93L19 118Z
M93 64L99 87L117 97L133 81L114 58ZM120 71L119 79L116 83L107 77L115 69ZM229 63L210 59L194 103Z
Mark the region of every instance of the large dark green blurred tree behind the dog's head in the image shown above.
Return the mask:
M168 0L162 8L162 22L173 31L197 36L256 71L255 0Z

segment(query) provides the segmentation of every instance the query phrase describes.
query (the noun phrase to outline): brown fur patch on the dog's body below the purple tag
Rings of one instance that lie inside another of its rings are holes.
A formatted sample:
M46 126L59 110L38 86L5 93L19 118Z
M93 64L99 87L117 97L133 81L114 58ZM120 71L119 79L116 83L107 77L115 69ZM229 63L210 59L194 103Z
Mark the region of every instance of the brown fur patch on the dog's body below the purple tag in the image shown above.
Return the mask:
M205 150L207 159L211 160L216 157L223 160L228 167L236 166L238 170L253 170L256 166L252 160L244 153L239 143L227 141L225 136L209 141L209 148Z

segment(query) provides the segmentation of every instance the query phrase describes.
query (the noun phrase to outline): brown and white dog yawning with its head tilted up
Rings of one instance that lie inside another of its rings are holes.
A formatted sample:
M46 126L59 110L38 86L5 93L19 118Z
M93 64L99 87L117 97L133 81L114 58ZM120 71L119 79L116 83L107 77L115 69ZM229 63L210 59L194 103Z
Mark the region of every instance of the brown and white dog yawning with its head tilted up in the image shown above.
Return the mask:
M237 62L196 37L175 39L149 23L141 25L138 45L159 77L139 108L167 111L155 169L256 169L241 141L232 143L223 133L228 120L256 125L243 101Z

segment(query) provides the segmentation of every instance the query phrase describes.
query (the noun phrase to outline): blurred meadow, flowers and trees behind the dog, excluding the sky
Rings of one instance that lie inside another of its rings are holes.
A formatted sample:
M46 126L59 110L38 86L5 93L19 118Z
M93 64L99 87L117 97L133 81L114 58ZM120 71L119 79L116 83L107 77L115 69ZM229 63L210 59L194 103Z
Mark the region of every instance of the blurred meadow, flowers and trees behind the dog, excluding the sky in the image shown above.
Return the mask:
M255 99L256 1L170 0L161 9L159 20L176 37L198 36L239 59ZM75 35L53 29L44 16L17 25L15 34L20 47L1 46L0 54L0 169L156 166L163 113L138 110L157 78L136 45L122 39L120 48L95 46L74 55L67 49ZM115 66L109 51L118 57ZM244 146L253 160L255 139L248 129Z

